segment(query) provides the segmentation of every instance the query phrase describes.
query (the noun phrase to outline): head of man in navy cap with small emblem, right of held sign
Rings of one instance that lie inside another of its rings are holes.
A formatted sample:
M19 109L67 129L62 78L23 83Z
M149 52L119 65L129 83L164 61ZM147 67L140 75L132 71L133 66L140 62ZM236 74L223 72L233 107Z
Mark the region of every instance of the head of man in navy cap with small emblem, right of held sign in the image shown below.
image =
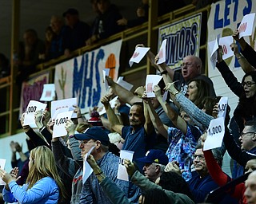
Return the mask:
M143 171L146 178L155 182L165 170L168 163L168 157L161 150L151 149L146 152L146 155L137 159L138 162L144 163Z

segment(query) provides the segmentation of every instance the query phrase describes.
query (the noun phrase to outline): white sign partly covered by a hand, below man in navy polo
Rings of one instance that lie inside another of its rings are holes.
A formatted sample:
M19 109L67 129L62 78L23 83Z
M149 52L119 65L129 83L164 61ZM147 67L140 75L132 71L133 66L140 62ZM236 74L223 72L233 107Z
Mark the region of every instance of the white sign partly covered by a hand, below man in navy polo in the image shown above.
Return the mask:
M118 165L118 179L129 181L129 177L126 171L126 167L123 163L123 160L129 159L130 161L132 161L133 156L134 156L134 151L126 151L126 150L120 151L120 158L119 158L119 165Z

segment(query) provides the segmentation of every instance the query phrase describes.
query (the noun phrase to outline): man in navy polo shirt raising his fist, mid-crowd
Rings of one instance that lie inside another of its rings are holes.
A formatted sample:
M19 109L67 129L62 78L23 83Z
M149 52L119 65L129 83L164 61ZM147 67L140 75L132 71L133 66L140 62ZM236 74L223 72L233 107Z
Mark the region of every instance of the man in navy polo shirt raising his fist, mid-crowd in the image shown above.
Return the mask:
M111 128L125 139L122 149L134 151L134 159L143 157L146 151L153 146L156 135L149 116L145 117L143 114L144 104L136 103L130 108L130 126L124 126L118 121L109 101L110 95L103 96L101 99ZM142 170L142 165L139 166Z

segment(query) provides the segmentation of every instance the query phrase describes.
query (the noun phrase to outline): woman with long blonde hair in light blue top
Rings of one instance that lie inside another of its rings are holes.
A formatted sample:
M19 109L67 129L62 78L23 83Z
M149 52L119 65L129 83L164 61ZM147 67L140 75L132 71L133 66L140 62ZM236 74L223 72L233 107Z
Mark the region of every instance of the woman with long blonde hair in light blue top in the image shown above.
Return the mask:
M26 184L18 186L15 176L0 168L0 177L6 186L2 196L6 202L58 203L65 197L65 190L58 175L52 151L39 146L30 152L29 175Z

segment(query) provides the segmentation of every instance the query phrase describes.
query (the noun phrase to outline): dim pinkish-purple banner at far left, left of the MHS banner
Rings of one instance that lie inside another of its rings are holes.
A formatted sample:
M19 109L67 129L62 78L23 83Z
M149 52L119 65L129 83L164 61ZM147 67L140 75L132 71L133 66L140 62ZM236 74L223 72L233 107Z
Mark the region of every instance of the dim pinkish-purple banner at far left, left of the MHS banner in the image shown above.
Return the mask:
M30 100L39 101L42 96L43 84L49 83L50 72L46 71L22 83L22 94L20 103L20 116L26 111Z

